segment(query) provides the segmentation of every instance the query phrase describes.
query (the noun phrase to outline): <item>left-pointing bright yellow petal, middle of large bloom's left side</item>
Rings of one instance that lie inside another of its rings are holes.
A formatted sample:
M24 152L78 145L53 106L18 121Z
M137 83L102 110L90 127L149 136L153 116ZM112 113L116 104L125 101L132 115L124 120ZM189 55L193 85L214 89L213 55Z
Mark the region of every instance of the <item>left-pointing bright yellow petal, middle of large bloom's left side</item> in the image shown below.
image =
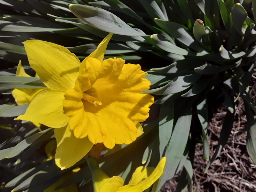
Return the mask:
M60 128L68 123L68 116L63 113L64 92L46 90L40 92L29 104L24 115L15 120L26 120L44 124L52 128Z

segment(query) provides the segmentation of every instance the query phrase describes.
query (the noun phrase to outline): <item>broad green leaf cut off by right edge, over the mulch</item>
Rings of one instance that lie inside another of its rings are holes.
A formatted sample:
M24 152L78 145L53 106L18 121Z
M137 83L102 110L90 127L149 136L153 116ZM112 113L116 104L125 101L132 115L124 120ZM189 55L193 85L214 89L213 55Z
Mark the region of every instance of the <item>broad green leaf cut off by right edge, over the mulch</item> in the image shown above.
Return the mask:
M256 122L251 107L245 101L245 113L247 119L246 149L254 164L256 163Z

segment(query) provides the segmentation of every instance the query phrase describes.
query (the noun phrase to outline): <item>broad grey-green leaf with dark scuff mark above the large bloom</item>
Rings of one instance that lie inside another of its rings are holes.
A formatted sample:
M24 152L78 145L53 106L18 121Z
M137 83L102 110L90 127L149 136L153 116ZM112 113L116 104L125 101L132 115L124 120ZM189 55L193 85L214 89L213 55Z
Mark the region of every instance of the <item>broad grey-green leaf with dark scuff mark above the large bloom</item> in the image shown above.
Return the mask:
M79 4L70 4L69 9L76 17L102 31L126 36L146 35L131 28L119 17L104 9Z

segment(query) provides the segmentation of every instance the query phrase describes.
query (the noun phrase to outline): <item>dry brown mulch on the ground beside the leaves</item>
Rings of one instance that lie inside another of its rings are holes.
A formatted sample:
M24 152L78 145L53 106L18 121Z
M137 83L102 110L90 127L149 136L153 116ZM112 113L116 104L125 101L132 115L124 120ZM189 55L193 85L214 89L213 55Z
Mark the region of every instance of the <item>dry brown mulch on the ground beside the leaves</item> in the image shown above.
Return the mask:
M255 103L255 69L250 83L250 96ZM213 117L208 124L207 133L211 149L210 157L213 155L218 145L220 130L225 115L225 107L220 106L216 113L213 114ZM246 135L244 101L239 98L236 102L235 122L228 142L206 173L204 173L204 169L207 162L202 156L203 146L196 145L193 164L193 183L195 192L256 191L256 165L252 162L246 151ZM179 180L179 174L167 181L161 191L174 192Z

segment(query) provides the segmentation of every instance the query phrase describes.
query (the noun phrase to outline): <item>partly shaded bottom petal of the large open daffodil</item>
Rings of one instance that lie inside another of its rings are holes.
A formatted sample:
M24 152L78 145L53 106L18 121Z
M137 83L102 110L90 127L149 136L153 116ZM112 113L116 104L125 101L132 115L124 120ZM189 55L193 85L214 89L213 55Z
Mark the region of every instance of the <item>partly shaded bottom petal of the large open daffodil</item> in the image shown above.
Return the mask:
M57 141L55 162L61 169L66 169L76 164L93 146L87 137L77 139L68 125L54 129L54 133Z

